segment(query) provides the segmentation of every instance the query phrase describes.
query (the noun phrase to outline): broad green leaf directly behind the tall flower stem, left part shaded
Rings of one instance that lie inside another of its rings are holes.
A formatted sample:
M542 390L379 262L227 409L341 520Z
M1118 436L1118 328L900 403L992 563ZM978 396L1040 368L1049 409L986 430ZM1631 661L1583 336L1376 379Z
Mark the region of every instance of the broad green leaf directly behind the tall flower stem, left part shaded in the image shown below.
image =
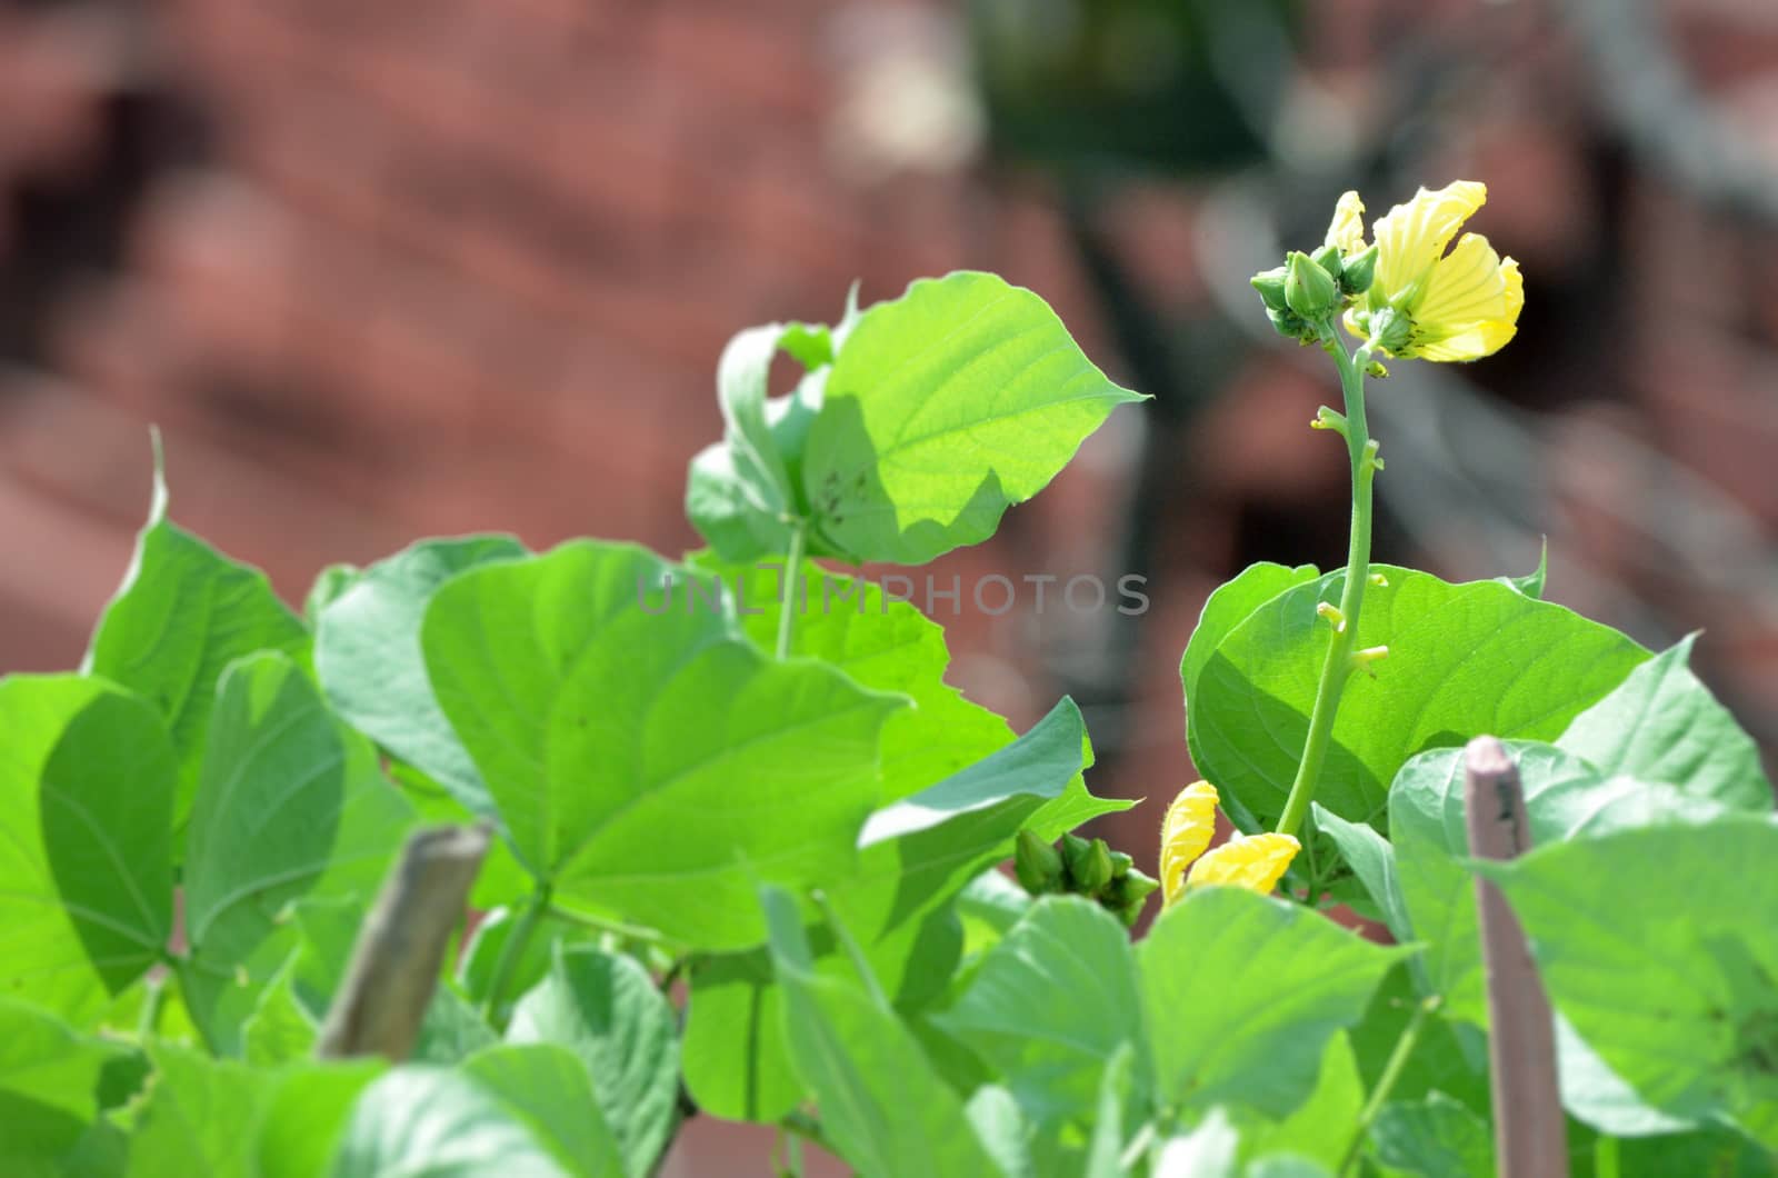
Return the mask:
M1415 753L1479 733L1552 740L1646 658L1616 630L1499 582L1380 571L1389 585L1367 591L1357 646L1389 646L1389 658L1374 680L1346 685L1316 794L1353 822L1382 819L1389 783ZM1341 569L1271 598L1197 676L1191 758L1264 826L1296 776L1332 637L1316 603L1337 601L1344 578Z

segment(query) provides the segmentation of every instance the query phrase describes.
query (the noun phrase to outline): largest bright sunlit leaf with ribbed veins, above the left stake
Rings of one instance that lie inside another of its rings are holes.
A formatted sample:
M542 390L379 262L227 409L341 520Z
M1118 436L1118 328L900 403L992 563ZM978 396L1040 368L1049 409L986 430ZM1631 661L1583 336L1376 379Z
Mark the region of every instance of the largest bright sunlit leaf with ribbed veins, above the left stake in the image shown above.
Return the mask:
M692 575L628 545L564 545L448 582L421 642L514 849L558 904L745 948L763 936L756 877L852 870L878 730L905 701L768 660L720 610L654 612L645 594L669 578Z

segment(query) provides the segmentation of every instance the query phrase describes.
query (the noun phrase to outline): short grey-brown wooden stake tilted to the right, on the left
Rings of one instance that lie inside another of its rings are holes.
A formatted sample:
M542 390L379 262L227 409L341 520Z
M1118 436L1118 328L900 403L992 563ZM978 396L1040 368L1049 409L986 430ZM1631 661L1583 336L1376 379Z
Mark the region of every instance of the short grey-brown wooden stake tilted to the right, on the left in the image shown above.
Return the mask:
M315 1045L320 1059L400 1062L412 1053L487 845L489 831L480 826L441 826L407 840L352 947L345 984Z

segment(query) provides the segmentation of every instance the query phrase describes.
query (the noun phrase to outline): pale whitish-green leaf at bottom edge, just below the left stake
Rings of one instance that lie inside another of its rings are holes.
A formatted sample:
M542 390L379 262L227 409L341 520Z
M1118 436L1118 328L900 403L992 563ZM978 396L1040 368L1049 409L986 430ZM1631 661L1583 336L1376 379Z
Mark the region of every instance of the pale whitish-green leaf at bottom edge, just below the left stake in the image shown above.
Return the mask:
M331 1178L500 1174L567 1178L573 1171L530 1117L461 1071L396 1068L352 1107Z

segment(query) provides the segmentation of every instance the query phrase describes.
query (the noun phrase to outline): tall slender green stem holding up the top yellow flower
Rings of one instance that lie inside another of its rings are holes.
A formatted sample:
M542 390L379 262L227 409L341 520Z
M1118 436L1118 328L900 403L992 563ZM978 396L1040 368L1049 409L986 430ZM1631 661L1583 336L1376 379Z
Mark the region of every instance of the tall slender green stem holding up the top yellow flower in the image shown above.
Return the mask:
M1371 363L1371 345L1364 343L1351 356L1332 340L1332 327L1323 333L1328 354L1339 365L1341 391L1346 397L1346 452L1351 459L1351 543L1346 548L1346 587L1341 591L1341 625L1334 628L1326 660L1321 664L1321 682L1316 685L1314 710L1309 714L1309 738L1303 758L1296 765L1291 795L1278 817L1278 833L1294 835L1309 815L1316 785L1321 779L1321 762L1328 754L1334 733L1334 715L1339 712L1341 692L1351 678L1351 646L1358 637L1358 610L1364 609L1364 587L1371 580L1371 482L1376 479L1376 452L1364 420L1364 368Z

